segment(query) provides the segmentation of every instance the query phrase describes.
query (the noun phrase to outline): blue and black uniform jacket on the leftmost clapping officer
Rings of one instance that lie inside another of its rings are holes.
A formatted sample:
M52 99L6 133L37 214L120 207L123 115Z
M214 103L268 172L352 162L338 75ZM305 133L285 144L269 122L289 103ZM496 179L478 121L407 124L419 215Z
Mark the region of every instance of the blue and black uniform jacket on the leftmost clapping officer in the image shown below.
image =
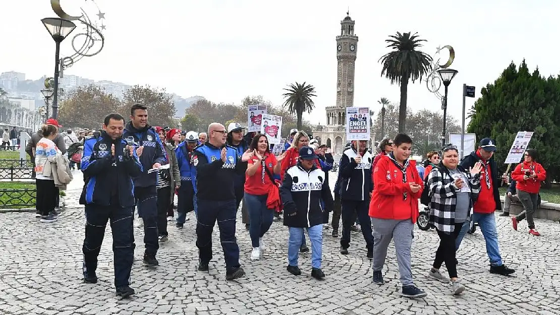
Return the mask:
M115 156L111 154L111 144L115 144ZM132 158L123 157L125 145L125 140L113 140L105 131L99 138L86 139L80 167L86 184L80 204L108 206L111 192L116 189L120 206L134 206L136 201L132 178L142 173L142 164L136 151L133 151Z

